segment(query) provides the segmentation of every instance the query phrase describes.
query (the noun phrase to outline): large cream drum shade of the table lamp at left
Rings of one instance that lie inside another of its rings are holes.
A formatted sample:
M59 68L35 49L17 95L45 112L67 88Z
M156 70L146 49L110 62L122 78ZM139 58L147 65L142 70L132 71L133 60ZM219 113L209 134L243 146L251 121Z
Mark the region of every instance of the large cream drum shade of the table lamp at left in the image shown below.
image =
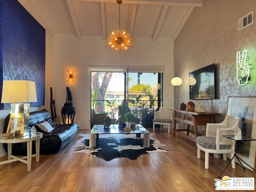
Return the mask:
M3 81L1 103L37 102L36 84L28 80Z

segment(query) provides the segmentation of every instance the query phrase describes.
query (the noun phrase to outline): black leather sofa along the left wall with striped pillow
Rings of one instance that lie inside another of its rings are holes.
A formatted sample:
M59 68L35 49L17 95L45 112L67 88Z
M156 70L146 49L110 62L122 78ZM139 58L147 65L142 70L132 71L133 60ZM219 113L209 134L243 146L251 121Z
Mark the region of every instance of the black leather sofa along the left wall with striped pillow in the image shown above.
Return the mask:
M6 133L10 114L6 117L4 122L4 133ZM51 132L44 132L38 128L37 124L43 121L47 121L54 128ZM36 131L42 132L43 137L40 139L40 154L54 154L62 149L66 144L73 140L76 136L79 126L77 124L54 124L50 113L47 110L41 110L31 112L29 114L29 126L36 127ZM7 144L4 145L4 150L7 152ZM32 143L32 154L36 153L36 142ZM12 144L13 155L26 155L27 154L27 143L16 143Z

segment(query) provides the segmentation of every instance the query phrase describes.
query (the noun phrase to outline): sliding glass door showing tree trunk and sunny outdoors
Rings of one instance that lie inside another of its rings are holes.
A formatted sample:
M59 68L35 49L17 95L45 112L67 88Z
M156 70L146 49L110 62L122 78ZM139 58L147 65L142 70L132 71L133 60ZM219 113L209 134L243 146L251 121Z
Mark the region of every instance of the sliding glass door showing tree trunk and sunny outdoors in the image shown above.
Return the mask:
M126 102L141 123L144 113L154 112L162 103L162 73L115 70L91 70L91 108L118 119L118 105Z

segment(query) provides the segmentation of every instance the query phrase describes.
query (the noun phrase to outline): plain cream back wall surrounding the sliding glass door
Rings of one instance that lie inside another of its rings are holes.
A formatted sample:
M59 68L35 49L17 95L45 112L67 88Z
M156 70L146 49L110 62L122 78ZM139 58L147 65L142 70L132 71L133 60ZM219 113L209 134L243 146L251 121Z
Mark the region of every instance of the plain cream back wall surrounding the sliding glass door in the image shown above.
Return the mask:
M53 39L53 99L57 115L66 102L66 86L69 86L76 107L74 122L81 129L90 128L90 65L160 65L164 66L164 106L173 106L173 42L169 38L136 38L130 53L108 52L102 36L55 34ZM75 83L67 82L67 70L75 70ZM83 96L87 93L87 96ZM168 96L168 97L167 97Z

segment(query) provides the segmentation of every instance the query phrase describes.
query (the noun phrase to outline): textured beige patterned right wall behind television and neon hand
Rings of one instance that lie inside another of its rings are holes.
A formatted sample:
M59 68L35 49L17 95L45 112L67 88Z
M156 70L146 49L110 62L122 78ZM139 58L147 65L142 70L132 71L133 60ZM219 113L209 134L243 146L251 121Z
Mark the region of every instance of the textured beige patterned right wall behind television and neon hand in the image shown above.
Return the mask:
M200 105L206 111L221 113L216 118L219 122L226 114L228 96L256 96L256 21L237 31L238 19L252 10L255 17L255 0L204 0L201 7L194 8L174 41L174 76L183 80L178 87L178 104L189 101L189 72L212 63L217 69L218 99L192 100L195 109ZM254 70L249 84L238 85L236 52L244 49Z

